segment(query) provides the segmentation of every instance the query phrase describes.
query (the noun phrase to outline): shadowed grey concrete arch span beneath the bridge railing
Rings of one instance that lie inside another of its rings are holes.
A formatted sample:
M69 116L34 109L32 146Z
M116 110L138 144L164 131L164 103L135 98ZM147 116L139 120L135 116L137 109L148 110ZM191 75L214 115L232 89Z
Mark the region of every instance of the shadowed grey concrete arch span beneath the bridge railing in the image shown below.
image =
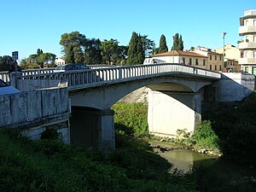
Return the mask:
M211 82L157 77L153 79L138 79L119 84L104 84L95 89L71 90L69 91L69 97L71 98L72 106L104 110L111 108L121 98L144 86L158 91L195 93L208 84L211 84Z

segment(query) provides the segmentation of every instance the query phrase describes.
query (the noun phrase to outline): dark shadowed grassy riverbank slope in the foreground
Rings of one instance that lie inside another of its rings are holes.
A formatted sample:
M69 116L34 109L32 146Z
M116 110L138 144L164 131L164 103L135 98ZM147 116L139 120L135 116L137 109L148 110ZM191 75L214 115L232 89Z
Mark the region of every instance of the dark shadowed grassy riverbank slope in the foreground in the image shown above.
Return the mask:
M86 148L58 140L32 142L17 131L1 130L0 191L195 191L175 183L169 164L146 144L132 142L104 160Z

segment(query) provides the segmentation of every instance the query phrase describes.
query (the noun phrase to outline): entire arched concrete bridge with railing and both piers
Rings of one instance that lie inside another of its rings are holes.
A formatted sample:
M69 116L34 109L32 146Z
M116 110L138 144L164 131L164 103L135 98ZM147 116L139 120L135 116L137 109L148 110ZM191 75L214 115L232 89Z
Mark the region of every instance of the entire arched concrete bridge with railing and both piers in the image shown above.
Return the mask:
M111 107L122 97L147 86L149 132L172 137L177 129L194 131L201 122L201 101L218 97L216 82L220 79L221 73L197 67L152 64L27 73L11 83L24 91L67 85L72 106L71 143L109 151L115 148Z

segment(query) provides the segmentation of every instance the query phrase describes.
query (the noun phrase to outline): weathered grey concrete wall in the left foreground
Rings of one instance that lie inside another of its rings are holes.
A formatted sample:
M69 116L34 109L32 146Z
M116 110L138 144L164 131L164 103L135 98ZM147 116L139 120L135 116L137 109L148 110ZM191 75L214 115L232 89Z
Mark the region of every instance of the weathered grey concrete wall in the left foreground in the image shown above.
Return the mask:
M54 128L69 143L70 102L67 88L32 90L0 96L0 128L19 128L38 139Z

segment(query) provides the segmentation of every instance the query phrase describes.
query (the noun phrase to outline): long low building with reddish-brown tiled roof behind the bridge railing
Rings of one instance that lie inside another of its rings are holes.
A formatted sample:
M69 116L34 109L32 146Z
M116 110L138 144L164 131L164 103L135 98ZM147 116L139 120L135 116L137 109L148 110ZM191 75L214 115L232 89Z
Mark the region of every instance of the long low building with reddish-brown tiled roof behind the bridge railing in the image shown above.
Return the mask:
M189 66L207 68L207 56L189 51L174 50L151 55L151 58L147 58L144 61L144 64L149 63L182 63Z

